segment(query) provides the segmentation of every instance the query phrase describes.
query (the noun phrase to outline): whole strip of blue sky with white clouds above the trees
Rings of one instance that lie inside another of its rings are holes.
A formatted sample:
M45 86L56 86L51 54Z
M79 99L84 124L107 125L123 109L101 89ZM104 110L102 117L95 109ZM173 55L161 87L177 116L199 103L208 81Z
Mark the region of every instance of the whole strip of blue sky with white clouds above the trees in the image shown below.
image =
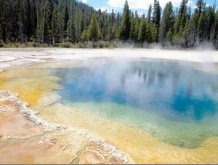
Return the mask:
M125 0L80 0L95 9L111 11L122 11ZM159 0L161 7L163 8L170 0ZM218 2L218 0L216 0ZM131 10L147 11L150 4L153 4L154 0L128 0ZM174 7L179 7L181 0L171 0ZM214 0L204 0L207 4L214 4ZM196 0L189 0L189 5L194 8Z

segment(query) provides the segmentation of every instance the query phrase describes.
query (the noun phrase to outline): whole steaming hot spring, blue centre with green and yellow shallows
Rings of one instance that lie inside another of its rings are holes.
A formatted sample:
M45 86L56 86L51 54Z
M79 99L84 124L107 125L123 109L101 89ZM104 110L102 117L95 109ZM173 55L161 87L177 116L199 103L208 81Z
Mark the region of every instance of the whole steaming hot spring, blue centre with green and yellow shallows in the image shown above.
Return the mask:
M20 93L49 122L105 138L137 163L218 162L216 64L145 58L72 63L12 69L0 74L0 88Z

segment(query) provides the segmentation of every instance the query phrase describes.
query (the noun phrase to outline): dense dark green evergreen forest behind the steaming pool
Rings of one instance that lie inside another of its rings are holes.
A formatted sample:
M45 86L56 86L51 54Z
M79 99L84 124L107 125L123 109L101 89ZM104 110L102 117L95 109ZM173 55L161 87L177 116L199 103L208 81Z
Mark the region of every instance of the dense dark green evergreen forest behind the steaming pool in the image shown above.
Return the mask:
M218 48L216 5L198 0L196 8L182 0L161 9L158 0L139 15L125 2L122 14L94 10L76 0L0 0L0 43L133 42L194 47L210 42ZM0 44L0 45L1 45Z

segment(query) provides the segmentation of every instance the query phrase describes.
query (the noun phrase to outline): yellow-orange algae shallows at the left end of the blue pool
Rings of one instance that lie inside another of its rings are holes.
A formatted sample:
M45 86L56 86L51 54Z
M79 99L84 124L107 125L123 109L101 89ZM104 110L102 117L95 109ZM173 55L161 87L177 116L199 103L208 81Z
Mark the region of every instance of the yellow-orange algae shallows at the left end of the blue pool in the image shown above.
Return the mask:
M58 78L46 70L18 68L0 73L0 90L16 92L30 106L37 105L44 93L58 88Z

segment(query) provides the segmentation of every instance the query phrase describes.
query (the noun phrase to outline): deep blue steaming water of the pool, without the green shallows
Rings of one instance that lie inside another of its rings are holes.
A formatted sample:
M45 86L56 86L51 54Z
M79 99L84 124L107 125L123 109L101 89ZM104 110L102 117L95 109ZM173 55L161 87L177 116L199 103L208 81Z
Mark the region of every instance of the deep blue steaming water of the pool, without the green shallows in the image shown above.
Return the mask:
M104 61L58 69L59 94L71 102L112 102L170 120L200 121L218 111L218 74L190 63Z

